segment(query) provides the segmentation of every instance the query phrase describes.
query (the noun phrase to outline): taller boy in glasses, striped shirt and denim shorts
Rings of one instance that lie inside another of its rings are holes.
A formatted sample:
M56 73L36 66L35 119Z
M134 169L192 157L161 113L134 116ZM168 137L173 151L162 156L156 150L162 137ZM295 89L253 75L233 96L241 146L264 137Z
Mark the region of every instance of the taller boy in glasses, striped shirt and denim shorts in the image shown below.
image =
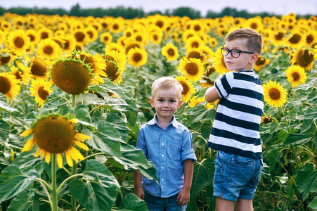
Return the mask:
M214 196L216 210L253 210L252 198L262 167L259 128L264 108L263 88L253 71L262 49L261 34L234 30L221 49L228 70L219 76L205 99L220 98L207 146L216 150Z

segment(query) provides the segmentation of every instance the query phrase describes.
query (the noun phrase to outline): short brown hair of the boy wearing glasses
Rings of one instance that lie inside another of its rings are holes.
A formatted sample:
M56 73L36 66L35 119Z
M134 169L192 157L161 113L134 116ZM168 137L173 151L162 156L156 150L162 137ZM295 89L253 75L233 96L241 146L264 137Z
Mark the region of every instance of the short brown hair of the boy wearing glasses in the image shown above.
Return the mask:
M230 32L225 41L232 41L233 39L248 39L247 40L247 50L254 53L260 54L262 51L262 37L256 30L242 28L238 30L233 30Z

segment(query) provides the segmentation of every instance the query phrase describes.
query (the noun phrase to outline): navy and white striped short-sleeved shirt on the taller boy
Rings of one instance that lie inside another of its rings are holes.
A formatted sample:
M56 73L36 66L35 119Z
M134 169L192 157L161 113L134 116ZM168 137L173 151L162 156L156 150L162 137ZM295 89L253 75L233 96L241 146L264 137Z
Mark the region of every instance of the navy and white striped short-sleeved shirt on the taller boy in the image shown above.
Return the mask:
M214 84L220 98L207 146L262 159L259 134L264 108L261 80L252 70L228 72Z

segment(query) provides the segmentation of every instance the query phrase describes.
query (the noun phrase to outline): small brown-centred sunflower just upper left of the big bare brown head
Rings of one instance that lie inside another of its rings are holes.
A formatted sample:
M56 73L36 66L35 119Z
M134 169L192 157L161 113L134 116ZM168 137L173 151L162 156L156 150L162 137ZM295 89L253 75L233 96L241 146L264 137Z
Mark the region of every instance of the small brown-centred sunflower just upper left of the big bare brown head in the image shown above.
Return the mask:
M38 78L46 79L47 68L48 68L48 63L46 62L46 60L44 60L40 56L32 57L29 67L30 67L31 74L33 77L35 77L35 79L38 79Z

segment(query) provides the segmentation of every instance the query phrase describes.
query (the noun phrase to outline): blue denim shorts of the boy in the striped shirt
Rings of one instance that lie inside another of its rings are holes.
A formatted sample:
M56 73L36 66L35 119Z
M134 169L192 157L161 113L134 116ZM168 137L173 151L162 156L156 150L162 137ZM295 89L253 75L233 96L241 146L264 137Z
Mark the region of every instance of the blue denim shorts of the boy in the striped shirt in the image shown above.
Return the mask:
M238 198L252 199L257 190L261 169L261 160L217 151L214 196L234 202Z

